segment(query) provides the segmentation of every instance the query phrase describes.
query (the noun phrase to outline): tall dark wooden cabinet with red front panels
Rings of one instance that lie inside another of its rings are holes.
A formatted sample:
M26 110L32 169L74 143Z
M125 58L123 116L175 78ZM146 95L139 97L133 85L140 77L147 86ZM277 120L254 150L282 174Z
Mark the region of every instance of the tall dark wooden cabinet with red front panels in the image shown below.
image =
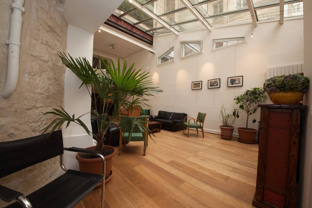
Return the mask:
M261 107L256 207L297 207L302 112L305 105Z

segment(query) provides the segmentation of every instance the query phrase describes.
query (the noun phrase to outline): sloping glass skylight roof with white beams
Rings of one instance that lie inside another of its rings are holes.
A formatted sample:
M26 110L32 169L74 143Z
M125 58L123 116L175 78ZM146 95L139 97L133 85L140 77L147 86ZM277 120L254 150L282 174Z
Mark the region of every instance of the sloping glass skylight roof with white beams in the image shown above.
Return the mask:
M188 31L204 26L193 13L188 10L181 0L132 0L147 8L161 20L165 21L172 30ZM199 14L205 18L210 27L220 27L229 24L274 20L280 18L279 0L252 0L257 17L249 12L247 0L186 0L189 1ZM133 3L132 2L132 3ZM148 12L143 12L126 0L116 9L114 15L148 32L151 35L172 33L158 21L151 18ZM302 0L285 0L284 17L303 16Z

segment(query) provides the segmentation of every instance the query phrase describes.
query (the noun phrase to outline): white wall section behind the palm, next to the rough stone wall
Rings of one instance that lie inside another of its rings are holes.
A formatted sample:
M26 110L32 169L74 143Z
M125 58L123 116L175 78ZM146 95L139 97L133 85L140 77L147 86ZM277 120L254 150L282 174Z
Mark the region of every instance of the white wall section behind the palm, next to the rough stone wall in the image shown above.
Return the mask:
M93 34L77 27L68 25L67 30L67 53L73 58L86 57L92 63ZM85 114L91 109L91 98L87 87L80 89L81 80L68 68L65 72L64 106L68 114L75 114L75 118ZM91 87L89 87L91 92ZM81 121L91 130L90 114L81 117ZM87 135L85 130L76 123L71 123L63 128L64 147L86 148L92 146L92 136ZM92 130L91 130L92 131ZM64 152L64 164L67 169L78 170L78 162L75 152Z

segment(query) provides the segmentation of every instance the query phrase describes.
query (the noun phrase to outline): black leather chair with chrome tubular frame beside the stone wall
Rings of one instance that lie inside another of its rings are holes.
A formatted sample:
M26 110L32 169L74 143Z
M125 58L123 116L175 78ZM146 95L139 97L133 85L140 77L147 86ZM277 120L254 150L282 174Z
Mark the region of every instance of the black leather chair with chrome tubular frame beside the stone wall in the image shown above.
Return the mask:
M64 148L61 130L51 133L49 137L48 135L0 143L0 178L56 156L60 156L60 165L65 171L28 196L0 185L0 199L6 202L16 201L7 207L74 207L105 178L105 159L99 152L75 147ZM67 170L63 164L64 150L98 155L103 162L102 175ZM102 183L102 208L104 190L105 183Z

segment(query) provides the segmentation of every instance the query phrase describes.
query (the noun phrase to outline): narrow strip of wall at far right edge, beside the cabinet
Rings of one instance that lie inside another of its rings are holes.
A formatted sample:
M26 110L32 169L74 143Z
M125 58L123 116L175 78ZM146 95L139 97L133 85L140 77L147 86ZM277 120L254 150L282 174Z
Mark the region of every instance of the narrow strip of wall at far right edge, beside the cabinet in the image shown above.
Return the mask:
M300 180L302 186L300 187L301 206L312 207L312 180L311 180L311 164L312 164L312 118L311 118L311 104L312 104L312 7L311 0L303 1L303 14L304 14L304 68L305 76L310 78L310 89L305 94L305 104L308 106L305 112L305 131L301 143L301 169Z

